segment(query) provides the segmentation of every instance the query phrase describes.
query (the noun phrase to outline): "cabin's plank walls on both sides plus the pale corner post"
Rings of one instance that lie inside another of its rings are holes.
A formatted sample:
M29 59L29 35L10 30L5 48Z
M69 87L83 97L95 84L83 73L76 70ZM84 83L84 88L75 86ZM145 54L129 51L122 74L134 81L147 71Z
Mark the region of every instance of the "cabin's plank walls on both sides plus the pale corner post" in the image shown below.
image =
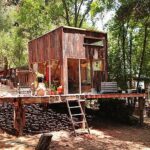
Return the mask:
M87 38L87 39L86 39ZM89 40L88 43L85 43ZM103 41L103 46L92 46L90 40ZM104 62L103 74L107 80L107 34L97 31L88 31L72 27L59 27L37 39L29 42L29 63L50 62L59 60L61 65L61 85L64 93L68 93L68 58L88 59L94 58L95 51L98 59Z

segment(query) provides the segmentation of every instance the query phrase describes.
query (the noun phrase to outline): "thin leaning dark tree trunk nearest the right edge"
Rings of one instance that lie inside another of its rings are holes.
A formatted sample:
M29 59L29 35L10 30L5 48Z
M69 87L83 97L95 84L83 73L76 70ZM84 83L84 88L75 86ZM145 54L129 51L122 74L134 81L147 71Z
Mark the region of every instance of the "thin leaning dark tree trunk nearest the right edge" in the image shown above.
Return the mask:
M145 57L145 51L146 51L147 35L148 35L147 25L145 25L145 29L144 29L144 39L143 39L143 50L142 50L142 55L141 55L140 67L139 67L137 88L139 87L140 77L141 77L141 74L142 74L142 68L143 68L144 57Z

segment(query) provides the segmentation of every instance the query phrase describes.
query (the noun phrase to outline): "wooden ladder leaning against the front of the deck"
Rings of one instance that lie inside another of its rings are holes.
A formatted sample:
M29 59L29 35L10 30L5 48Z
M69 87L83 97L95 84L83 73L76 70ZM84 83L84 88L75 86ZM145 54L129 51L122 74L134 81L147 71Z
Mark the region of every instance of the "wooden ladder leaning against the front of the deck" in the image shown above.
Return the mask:
M84 113L83 108L81 106L81 100L79 100L79 99L67 99L66 102L67 102L67 108L68 108L68 112L69 112L70 119L72 122L73 130L74 130L74 134L77 136L76 128L75 128L76 124L82 124L82 125L84 124L85 125L84 129L87 128L88 133L90 134L90 130L89 130L88 123L87 123L87 120L85 117L85 113ZM77 105L72 106L72 105L70 105L71 102L73 102L73 103L76 102ZM72 109L74 109L74 110L78 109L78 111L80 111L80 113L72 113ZM82 120L81 121L75 121L73 119L73 117L77 117L77 116L81 116Z

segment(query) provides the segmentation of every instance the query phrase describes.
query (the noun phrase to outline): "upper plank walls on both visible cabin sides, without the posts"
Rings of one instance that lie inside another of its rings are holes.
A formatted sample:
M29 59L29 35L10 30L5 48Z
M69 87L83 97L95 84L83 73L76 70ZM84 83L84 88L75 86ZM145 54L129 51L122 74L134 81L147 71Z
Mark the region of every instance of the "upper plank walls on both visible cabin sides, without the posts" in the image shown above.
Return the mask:
M105 40L106 36L101 32L60 27L29 42L29 63L45 62L51 59L60 60L62 51L63 58L89 59L86 53L90 46L84 45L84 38L93 37ZM92 49L100 48L92 47ZM106 51L106 44L101 50Z

